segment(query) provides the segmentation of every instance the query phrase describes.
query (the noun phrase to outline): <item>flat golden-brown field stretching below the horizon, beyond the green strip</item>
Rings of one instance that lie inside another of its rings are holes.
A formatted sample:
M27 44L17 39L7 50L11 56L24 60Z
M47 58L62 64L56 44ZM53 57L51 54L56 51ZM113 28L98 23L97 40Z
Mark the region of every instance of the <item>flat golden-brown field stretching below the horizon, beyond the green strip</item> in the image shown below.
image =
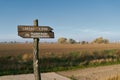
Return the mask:
M39 44L40 55L66 54L79 51L120 49L120 44ZM33 53L33 44L0 44L0 56Z

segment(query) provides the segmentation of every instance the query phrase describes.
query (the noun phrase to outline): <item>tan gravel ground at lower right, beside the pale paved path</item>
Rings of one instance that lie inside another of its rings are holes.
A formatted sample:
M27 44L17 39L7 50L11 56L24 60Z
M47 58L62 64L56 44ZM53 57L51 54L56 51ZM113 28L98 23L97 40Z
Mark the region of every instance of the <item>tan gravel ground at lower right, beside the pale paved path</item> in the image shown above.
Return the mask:
M96 68L87 68L71 71L62 71L58 74L73 77L77 80L120 80L120 64L111 66L101 66Z

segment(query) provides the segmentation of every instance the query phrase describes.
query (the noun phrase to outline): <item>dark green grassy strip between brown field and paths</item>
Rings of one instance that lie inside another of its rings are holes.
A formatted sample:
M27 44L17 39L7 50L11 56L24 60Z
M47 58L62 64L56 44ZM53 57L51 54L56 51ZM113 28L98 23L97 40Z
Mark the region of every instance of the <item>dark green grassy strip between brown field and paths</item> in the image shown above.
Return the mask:
M22 57L23 55L0 57L0 76L33 73L32 59L24 58L23 60ZM52 53L39 60L41 72L82 69L120 64L120 50L71 52L59 56Z

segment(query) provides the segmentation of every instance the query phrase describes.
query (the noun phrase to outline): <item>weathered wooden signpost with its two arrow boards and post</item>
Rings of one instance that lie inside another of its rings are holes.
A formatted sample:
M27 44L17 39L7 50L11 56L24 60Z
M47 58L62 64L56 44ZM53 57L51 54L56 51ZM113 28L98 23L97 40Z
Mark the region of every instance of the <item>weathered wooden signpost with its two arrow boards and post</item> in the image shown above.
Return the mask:
M39 38L54 38L54 32L49 26L38 26L34 20L33 26L19 25L18 35L23 38L33 38L33 68L35 80L41 80L39 64Z

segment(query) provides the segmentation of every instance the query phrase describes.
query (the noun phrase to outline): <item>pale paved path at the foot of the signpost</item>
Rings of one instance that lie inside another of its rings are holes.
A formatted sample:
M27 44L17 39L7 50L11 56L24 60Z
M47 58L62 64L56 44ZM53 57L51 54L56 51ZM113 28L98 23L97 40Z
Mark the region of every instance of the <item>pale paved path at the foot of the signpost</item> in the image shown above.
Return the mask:
M41 74L42 80L70 80L54 72ZM0 76L0 80L35 80L33 74Z

